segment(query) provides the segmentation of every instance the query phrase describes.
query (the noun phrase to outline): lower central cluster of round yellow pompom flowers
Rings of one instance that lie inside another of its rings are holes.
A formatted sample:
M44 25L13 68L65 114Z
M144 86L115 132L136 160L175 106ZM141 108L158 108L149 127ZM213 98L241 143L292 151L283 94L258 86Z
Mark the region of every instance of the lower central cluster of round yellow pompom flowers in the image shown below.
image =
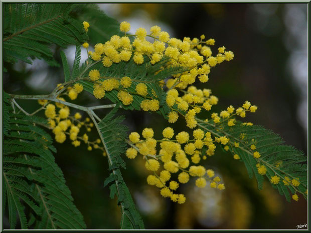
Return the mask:
M175 136L171 127L163 130L163 139L153 138L153 130L145 128L141 135L137 132L129 134L130 148L126 151L126 156L134 159L137 154L141 154L145 159L145 168L153 174L147 177L149 185L155 185L161 188L161 195L169 197L172 201L180 204L186 201L184 194L175 193L180 184L187 183L190 177L196 178L196 186L203 188L210 183L212 188L225 189L225 185L220 183L221 179L216 176L212 169L206 169L199 165L201 159L205 160L208 156L214 154L217 140L211 138L211 133L204 133L203 130L193 131L193 139L190 139L189 133L183 131ZM225 142L228 139L222 137L219 142ZM205 147L206 154L202 154ZM192 165L193 164L193 165ZM172 180L176 173L177 180Z

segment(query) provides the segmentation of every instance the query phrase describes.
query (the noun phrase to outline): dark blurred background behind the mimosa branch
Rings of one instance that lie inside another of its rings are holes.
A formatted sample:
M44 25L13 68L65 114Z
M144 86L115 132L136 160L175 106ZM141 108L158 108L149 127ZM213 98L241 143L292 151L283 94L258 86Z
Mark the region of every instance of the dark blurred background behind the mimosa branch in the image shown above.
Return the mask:
M216 40L215 50L225 46L234 52L229 63L216 66L209 82L198 88L210 88L219 97L215 111L245 100L258 106L247 121L272 129L286 144L307 152L307 4L99 4L108 16L147 31L158 25L171 37L200 37ZM92 25L90 26L92 27ZM59 59L59 48L55 48ZM74 49L66 50L71 63ZM84 53L82 61L85 59ZM60 60L60 59L59 59ZM9 93L44 94L63 82L62 68L49 68L36 60L33 65L17 63L4 75ZM83 105L99 102L83 93L74 101ZM26 103L26 102L25 102ZM25 104L24 103L24 104ZM23 104L23 103L22 103ZM38 104L27 102L28 110ZM105 112L102 112L104 114ZM99 113L101 114L101 113ZM157 114L123 112L130 131L141 133L145 127L160 138L169 126ZM161 127L159 127L161 125ZM182 131L182 122L174 125ZM90 135L94 140L95 132ZM108 164L100 151L76 149L70 142L56 144L56 161L62 168L75 203L88 228L119 228L120 210L103 187ZM205 167L215 169L225 182L223 191L209 187L197 189L193 182L181 186L187 202L175 204L162 198L158 188L146 184L149 174L141 169L143 161L125 158L124 180L132 193L146 228L174 229L295 229L307 222L307 202L286 202L268 181L261 191L246 168L232 156L218 150Z

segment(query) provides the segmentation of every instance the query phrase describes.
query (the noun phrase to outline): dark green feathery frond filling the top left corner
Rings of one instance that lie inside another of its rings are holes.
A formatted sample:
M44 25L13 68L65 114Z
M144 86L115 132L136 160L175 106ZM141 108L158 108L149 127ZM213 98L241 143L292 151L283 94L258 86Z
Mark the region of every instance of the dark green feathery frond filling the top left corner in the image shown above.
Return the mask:
M32 59L39 58L57 65L51 44L66 48L88 39L82 24L69 16L73 8L73 4L5 4L5 61L32 64Z

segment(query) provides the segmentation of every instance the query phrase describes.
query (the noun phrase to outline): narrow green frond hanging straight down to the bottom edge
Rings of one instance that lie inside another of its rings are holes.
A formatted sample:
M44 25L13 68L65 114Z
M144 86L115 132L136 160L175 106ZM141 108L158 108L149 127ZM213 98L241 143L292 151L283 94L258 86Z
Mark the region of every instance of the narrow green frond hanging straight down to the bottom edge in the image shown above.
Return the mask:
M123 116L114 117L118 109L116 106L99 123L101 139L107 152L110 175L106 178L104 186L109 185L110 197L116 195L121 206L121 229L142 229L144 228L141 216L136 210L130 192L122 178L120 168L125 168L125 162L121 158L126 150L125 137L127 126L121 124Z

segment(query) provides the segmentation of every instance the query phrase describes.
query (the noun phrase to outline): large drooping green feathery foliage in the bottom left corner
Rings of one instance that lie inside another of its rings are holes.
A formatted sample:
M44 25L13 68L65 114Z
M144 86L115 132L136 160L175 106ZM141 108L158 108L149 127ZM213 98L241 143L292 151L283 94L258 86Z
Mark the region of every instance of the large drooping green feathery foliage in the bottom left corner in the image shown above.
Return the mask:
M15 112L5 94L6 134L3 157L3 191L11 228L85 228L73 203L64 175L55 163L53 139L39 125L45 119ZM31 217L27 217L25 206Z

